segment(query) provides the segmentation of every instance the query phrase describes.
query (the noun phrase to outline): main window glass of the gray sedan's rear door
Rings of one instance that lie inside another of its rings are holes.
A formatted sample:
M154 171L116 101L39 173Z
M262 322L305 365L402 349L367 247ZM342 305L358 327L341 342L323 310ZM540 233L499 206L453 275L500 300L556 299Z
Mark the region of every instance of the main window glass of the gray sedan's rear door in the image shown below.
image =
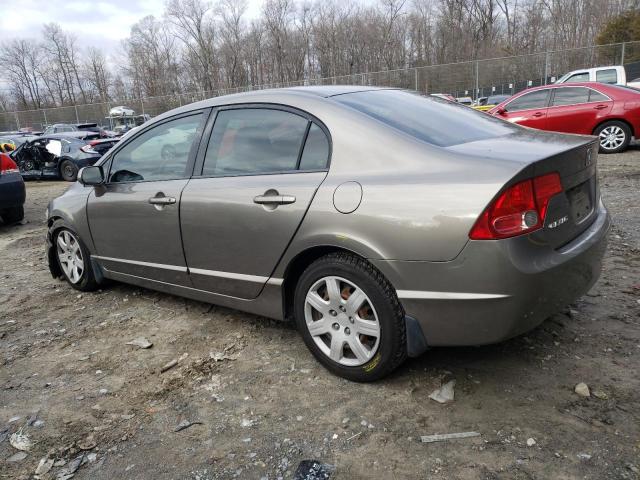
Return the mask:
M267 108L218 112L203 175L256 175L296 170L309 121Z

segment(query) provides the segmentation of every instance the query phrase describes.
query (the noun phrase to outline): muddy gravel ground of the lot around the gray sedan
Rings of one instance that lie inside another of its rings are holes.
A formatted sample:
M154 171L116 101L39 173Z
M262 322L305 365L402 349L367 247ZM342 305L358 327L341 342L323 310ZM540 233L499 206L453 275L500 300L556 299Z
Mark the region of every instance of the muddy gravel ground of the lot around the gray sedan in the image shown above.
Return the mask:
M434 349L374 384L332 376L283 323L53 280L44 209L68 184L29 182L27 223L0 225L0 477L30 478L49 455L53 476L83 459L78 479L292 478L305 459L338 479L640 478L640 148L599 162L614 226L585 297L525 336ZM153 346L127 345L139 337ZM430 400L451 378L455 401ZM35 442L23 459L20 428ZM481 436L420 442L466 431Z

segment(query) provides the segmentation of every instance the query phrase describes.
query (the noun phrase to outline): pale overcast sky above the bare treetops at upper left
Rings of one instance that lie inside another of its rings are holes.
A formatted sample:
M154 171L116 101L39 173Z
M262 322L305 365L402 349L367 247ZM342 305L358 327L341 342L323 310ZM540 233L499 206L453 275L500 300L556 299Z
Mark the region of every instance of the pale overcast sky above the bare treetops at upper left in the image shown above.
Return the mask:
M260 13L262 0L249 0L247 18ZM78 45L114 53L131 25L146 15L161 17L165 0L0 0L1 40L37 38L42 24L59 23Z

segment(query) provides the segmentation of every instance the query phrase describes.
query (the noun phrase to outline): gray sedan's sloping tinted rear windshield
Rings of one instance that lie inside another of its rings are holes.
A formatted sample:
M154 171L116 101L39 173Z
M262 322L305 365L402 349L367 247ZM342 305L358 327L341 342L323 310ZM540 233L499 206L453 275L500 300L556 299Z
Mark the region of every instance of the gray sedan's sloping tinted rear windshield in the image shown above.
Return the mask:
M439 147L495 138L517 128L469 107L403 90L371 90L333 99Z

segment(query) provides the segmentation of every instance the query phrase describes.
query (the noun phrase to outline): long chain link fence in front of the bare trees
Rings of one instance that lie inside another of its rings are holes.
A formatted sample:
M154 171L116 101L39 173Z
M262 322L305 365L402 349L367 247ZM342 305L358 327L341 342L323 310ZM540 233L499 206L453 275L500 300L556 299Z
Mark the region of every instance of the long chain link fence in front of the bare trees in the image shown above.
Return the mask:
M97 123L113 129L114 120L109 118L109 111L114 106L125 105L134 110L136 115L153 117L172 108L206 98L249 90L302 85L399 87L423 93L448 93L454 97L471 97L475 100L492 94L513 95L529 87L553 83L571 70L608 65L625 65L631 77L628 80L640 77L640 41L330 78L310 78L296 82L249 85L211 92L0 112L0 131L21 128L38 131L54 123Z

